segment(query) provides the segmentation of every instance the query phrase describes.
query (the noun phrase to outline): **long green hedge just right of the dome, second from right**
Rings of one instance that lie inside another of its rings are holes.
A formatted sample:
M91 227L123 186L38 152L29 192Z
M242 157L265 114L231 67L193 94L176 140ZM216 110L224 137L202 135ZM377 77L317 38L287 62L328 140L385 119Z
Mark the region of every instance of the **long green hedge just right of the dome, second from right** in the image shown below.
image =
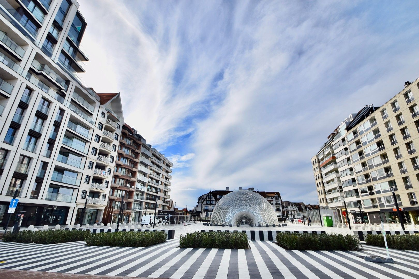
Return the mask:
M331 233L277 233L277 244L287 250L356 250L360 240L355 235Z

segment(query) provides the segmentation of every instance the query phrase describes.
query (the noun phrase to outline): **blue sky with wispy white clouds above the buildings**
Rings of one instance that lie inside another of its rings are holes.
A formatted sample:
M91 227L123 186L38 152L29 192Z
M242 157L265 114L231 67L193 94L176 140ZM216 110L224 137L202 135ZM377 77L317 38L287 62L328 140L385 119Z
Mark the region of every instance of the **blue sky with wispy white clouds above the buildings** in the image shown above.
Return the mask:
M419 76L417 2L79 0L83 81L174 164L171 197L254 187L317 202L310 159Z

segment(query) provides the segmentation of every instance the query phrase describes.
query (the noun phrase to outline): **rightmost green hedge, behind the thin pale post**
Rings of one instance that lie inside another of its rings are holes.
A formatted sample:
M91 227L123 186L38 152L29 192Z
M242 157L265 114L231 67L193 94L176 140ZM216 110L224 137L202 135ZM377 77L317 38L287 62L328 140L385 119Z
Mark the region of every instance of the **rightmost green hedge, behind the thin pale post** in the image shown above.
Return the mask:
M415 234L394 234L385 235L388 248L399 250L419 250L419 233ZM366 234L364 235L365 244L385 247L384 237L382 234Z

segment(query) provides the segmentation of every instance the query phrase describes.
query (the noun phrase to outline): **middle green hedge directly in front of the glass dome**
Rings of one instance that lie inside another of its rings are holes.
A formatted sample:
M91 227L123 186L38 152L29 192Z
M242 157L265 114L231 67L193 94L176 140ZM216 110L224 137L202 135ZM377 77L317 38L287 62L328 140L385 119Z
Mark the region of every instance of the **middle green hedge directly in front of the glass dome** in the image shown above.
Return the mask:
M246 249L248 241L246 233L233 232L194 232L181 235L181 248L220 248Z

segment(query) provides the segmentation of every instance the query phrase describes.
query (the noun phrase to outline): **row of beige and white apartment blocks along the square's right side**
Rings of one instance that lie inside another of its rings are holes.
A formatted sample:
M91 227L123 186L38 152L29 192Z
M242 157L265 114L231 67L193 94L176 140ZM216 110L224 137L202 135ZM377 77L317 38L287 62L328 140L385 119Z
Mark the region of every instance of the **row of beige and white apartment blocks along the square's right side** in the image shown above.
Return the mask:
M320 205L351 222L419 223L419 79L381 107L349 115L311 159Z

